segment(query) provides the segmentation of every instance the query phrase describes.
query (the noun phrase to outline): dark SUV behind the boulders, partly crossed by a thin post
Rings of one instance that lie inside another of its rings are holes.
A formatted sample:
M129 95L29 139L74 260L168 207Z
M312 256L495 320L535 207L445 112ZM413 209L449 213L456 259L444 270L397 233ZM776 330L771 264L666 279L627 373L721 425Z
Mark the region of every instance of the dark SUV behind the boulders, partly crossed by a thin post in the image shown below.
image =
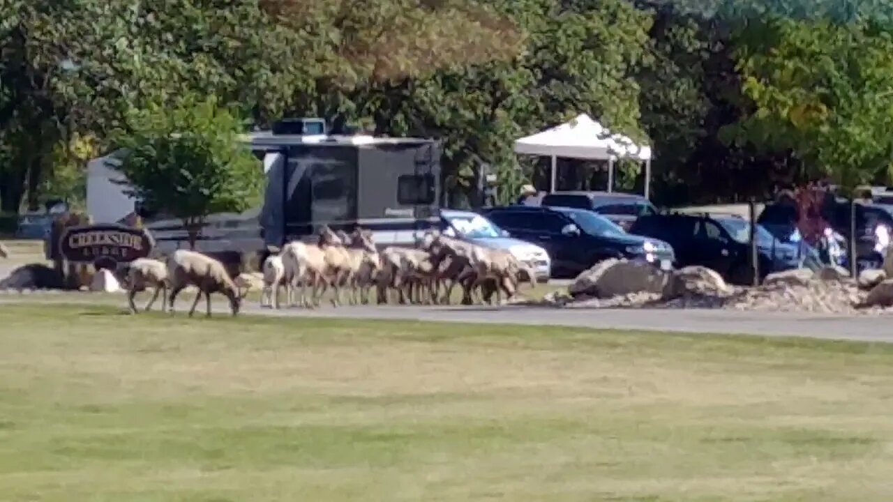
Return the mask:
M655 214L640 217L630 229L640 235L660 238L676 252L676 265L703 265L735 284L753 282L750 266L750 223L733 216L709 214ZM761 278L770 272L795 268L797 248L757 227L757 249Z

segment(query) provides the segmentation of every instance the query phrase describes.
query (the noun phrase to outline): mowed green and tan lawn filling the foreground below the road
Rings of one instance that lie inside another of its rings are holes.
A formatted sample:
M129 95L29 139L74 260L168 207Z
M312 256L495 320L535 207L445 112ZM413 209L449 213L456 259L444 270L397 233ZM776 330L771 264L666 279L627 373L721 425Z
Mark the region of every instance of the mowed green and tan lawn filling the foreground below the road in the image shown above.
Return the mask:
M889 501L893 348L0 305L0 499Z

